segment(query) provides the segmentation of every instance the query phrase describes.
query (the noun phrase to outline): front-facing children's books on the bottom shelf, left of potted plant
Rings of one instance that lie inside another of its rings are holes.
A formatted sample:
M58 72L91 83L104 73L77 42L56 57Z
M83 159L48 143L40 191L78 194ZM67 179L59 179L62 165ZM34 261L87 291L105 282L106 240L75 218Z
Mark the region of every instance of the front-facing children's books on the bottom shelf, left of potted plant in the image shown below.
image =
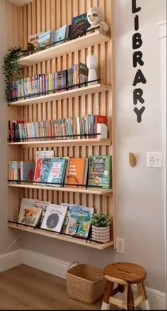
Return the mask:
M18 225L86 238L93 212L93 207L22 198Z

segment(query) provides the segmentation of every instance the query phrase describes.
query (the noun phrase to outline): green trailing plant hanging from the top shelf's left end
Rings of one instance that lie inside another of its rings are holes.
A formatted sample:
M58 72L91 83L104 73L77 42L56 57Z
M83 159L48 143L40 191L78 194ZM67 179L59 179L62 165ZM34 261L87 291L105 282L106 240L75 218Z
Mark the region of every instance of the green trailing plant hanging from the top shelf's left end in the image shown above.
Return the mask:
M7 102L10 101L11 81L21 78L21 69L18 64L18 59L22 54L23 49L21 47L11 47L4 57L3 69L6 82L5 97Z

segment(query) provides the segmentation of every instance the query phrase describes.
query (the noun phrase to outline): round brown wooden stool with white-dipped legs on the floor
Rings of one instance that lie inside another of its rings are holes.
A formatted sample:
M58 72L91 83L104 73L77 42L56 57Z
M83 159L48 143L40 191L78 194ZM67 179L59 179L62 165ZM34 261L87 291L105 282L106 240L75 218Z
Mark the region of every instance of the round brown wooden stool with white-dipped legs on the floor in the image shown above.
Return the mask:
M139 303L144 303L144 310L150 310L144 285L146 271L142 266L128 262L117 262L105 266L103 273L107 281L101 310L110 310L110 303L126 310L134 310ZM114 283L117 283L115 289ZM133 297L131 284L137 284L139 295L136 300ZM125 292L125 301L113 297L119 292Z

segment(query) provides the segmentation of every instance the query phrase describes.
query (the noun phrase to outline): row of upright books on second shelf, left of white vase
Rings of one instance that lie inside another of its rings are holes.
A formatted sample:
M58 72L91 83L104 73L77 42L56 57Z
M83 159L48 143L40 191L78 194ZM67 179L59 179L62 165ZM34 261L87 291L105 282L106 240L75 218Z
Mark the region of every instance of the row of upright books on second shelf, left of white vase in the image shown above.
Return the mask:
M59 93L64 90L79 88L80 85L87 86L87 81L88 68L86 64L79 61L78 64L73 64L69 69L11 81L10 101ZM85 84L82 85L81 83Z

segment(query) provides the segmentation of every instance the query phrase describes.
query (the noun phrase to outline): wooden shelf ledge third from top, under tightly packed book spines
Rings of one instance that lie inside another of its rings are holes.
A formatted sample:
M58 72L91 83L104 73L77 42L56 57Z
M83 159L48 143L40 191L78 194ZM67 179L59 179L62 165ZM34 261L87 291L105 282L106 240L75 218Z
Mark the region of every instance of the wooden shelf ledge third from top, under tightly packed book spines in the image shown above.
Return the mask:
M8 143L8 146L21 146L23 148L38 146L110 146L111 139L59 139L53 141L22 141L16 143Z

